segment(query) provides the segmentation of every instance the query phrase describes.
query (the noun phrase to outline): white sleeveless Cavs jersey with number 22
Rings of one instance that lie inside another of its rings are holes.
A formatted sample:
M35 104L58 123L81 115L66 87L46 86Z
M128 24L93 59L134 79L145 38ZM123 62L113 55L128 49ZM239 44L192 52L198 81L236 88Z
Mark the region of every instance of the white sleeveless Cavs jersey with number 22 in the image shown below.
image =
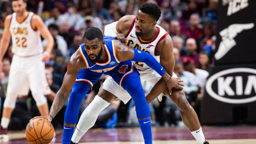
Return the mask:
M16 13L12 14L10 23L12 53L21 57L32 56L43 52L40 32L33 30L31 26L33 15L33 12L29 12L25 20L20 23L16 19Z

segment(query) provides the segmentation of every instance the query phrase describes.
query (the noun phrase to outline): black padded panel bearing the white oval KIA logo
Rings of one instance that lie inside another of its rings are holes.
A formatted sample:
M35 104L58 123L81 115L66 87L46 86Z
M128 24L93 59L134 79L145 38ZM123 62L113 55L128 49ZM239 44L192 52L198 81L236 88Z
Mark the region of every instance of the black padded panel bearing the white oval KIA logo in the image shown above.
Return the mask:
M256 64L214 66L201 107L204 124L256 122Z

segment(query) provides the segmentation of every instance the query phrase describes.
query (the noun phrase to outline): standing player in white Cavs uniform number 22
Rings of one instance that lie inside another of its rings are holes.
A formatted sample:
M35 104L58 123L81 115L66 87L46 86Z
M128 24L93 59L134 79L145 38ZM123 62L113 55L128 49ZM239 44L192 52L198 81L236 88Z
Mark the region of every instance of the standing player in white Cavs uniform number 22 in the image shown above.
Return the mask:
M7 127L18 95L28 95L31 90L40 114L47 116L49 113L48 103L44 97L47 88L49 89L44 62L50 58L54 40L41 17L26 11L26 6L23 0L12 0L14 13L5 18L4 33L0 42L0 72L10 37L14 53L0 126L0 138L4 139L8 139ZM44 52L40 34L48 42Z

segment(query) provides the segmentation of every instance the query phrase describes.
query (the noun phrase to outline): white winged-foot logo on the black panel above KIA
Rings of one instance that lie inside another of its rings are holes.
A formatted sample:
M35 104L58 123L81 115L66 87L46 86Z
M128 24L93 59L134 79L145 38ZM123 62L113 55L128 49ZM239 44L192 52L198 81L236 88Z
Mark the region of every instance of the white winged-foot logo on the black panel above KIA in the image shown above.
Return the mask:
M216 60L222 58L231 48L236 45L235 37L238 33L243 30L249 30L254 27L254 23L247 24L232 24L228 28L220 31L220 36L222 37L222 41L219 44L219 49L215 53L214 57Z

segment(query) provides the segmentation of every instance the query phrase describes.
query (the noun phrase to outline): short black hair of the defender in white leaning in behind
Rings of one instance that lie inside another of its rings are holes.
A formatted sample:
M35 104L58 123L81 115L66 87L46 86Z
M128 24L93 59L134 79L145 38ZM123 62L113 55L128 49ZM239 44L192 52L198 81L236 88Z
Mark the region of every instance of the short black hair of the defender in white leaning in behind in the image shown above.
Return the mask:
M153 3L144 3L142 6L140 6L139 10L152 16L156 21L158 21L159 17L161 16L159 6Z

